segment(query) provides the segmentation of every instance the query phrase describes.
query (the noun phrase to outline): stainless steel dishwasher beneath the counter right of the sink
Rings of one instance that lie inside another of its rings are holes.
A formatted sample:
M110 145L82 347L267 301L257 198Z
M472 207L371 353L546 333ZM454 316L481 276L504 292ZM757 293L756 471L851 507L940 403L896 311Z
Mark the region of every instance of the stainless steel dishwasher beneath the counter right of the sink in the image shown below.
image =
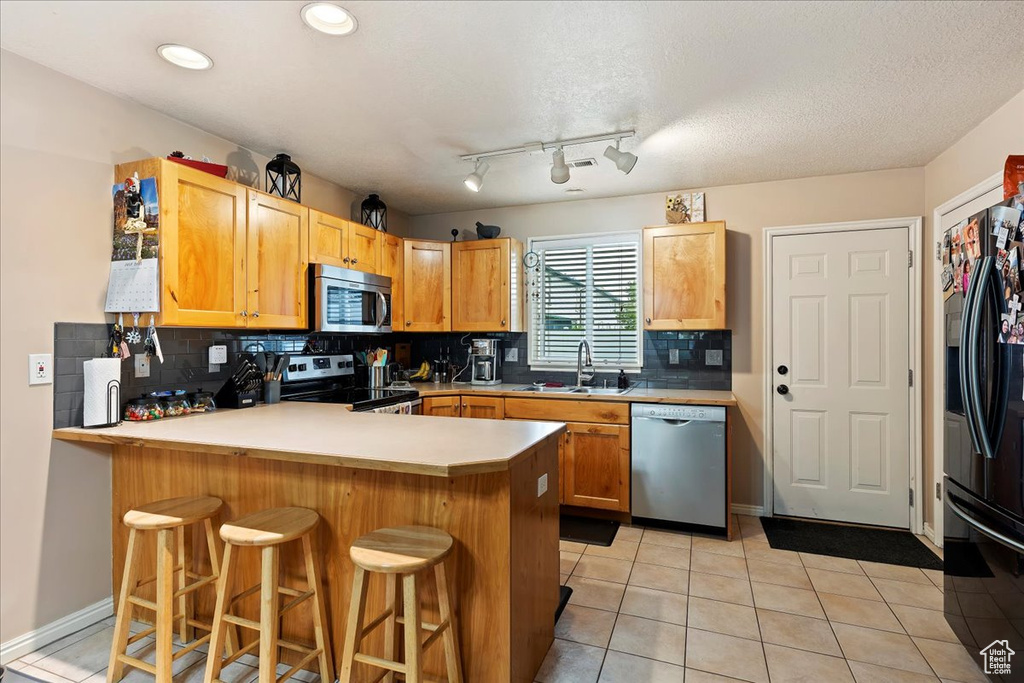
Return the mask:
M726 529L725 408L633 403L630 418L634 520Z

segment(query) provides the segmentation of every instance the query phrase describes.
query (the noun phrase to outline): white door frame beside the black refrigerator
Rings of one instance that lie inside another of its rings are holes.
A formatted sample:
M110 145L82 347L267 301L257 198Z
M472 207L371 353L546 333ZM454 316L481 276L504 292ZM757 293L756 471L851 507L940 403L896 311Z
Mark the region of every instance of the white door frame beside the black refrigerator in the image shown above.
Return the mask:
M959 195L956 195L952 199L943 202L939 206L935 207L932 212L932 237L935 239L935 259L941 263L942 253L942 218L948 214L952 213L956 209L959 209L965 204L969 204L978 200L988 193L992 191L997 187L1002 186L1002 174L996 173L989 176L985 180L979 182L974 187L967 189ZM935 266L935 275L932 278L932 282L928 283L928 291L931 293L929 296L929 305L932 308L932 357L935 359L935 377L933 379L942 380L945 373L945 368L943 364L943 356L945 352L945 310L943 304L945 299L942 297L942 283L940 276L942 274L942 268L940 266ZM933 480L929 482L930 490L935 489L942 490L942 476L945 473L946 458L945 458L945 410L942 401L942 390L940 389L935 392L935 396L932 401L932 478ZM940 497L935 497L930 499L932 501L932 525L926 526L924 529L925 536L932 540L939 548L942 547L943 539L943 516L945 510L943 509L942 499Z

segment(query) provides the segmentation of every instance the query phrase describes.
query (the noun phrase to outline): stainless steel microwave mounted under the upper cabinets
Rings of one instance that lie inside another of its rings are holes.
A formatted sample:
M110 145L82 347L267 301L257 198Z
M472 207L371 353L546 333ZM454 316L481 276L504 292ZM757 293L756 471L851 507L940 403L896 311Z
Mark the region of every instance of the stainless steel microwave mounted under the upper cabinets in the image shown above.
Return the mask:
M317 265L313 271L317 332L391 332L391 279Z

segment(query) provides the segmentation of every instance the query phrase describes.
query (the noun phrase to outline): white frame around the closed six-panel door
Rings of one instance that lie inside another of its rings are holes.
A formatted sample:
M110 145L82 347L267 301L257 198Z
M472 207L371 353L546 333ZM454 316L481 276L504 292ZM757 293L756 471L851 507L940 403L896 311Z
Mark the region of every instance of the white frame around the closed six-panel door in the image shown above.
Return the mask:
M907 216L903 218L883 218L878 220L854 220L841 223L814 223L809 225L784 225L778 227L766 227L764 229L764 327L762 329L762 342L764 357L762 360L764 368L764 409L762 420L764 424L765 443L764 458L764 514L772 516L775 510L775 479L774 460L775 441L772 425L772 415L774 414L774 396L772 381L772 239L777 237L793 234L815 234L821 232L848 232L855 230L879 230L890 227L902 227L907 230L907 250L913 254L911 257L909 271L909 306L907 311L907 326L910 331L910 371L913 373L913 386L907 387L910 392L910 467L907 470L910 475L910 489L913 492L914 505L910 514L910 530L914 533L922 533L924 530L924 505L923 505L923 481L924 477L924 455L922 451L922 385L924 384L921 373L922 368L922 333L923 333L923 283L922 283L922 250L923 250L923 218L921 216Z

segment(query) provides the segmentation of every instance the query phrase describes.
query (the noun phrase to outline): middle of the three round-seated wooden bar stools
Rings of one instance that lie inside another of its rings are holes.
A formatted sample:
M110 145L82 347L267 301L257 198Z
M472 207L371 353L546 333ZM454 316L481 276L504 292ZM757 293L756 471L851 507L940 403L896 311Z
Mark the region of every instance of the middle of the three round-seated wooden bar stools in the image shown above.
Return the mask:
M324 589L313 554L313 530L319 523L319 515L306 508L273 508L261 510L236 519L220 527L220 538L224 541L223 572L217 584L217 604L213 612L213 637L210 640L210 657L206 665L205 683L220 680L220 670L240 656L259 646L259 683L273 683L291 678L296 672L313 659L317 659L321 683L333 683L334 667L331 663L331 646L327 633L327 610ZM289 541L302 539L302 552L306 565L305 591L297 591L281 586L281 546ZM230 595L231 571L237 558L232 552L236 546L262 549L260 583ZM236 616L230 613L236 602L259 593L259 622ZM279 594L292 600L279 606ZM308 648L298 643L281 639L281 617L300 603L312 598L313 634L315 647ZM243 627L259 633L259 638L221 659L219 653L224 646L228 628ZM278 678L279 648L299 652L302 658Z

